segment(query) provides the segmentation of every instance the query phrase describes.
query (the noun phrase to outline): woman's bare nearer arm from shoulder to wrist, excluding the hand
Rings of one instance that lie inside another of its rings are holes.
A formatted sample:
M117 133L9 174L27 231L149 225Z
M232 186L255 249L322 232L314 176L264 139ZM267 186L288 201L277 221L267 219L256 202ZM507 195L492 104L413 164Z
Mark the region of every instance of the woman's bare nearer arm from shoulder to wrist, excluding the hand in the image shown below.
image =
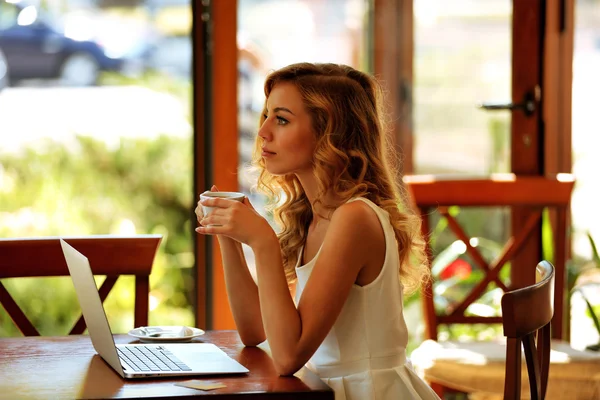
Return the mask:
M280 374L293 374L314 354L367 263L369 249L383 238L368 205L357 201L338 208L298 308L287 290L275 235L252 244L263 325Z

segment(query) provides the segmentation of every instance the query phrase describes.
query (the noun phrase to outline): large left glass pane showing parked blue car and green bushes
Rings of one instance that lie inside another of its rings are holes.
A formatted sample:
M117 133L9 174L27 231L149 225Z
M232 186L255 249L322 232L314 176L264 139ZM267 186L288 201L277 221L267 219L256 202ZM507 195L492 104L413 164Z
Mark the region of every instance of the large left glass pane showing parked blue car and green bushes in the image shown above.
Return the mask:
M0 0L0 237L163 234L151 324L194 321L190 11ZM44 335L75 322L65 279L7 282ZM133 327L133 299L133 278L119 279L105 303L114 332ZM12 334L0 308L0 336Z

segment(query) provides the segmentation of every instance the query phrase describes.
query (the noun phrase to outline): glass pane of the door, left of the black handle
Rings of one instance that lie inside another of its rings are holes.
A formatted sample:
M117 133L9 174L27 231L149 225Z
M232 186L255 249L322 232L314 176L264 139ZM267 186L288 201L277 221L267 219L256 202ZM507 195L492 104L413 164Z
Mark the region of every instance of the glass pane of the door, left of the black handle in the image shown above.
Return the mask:
M478 109L511 98L512 1L415 0L414 170L418 174L510 172L510 113ZM471 246L490 263L510 233L506 208L451 207ZM445 218L434 213L432 272L439 314L460 304L485 271ZM509 282L510 265L500 273ZM502 290L492 283L466 315L500 315ZM440 339L485 340L500 325L440 327Z

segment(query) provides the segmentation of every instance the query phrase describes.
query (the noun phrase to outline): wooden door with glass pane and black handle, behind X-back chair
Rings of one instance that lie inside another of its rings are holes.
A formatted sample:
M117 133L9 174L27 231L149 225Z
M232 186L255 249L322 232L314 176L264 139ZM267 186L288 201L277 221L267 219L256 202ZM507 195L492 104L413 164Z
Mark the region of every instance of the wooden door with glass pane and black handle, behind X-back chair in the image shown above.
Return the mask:
M411 6L414 72L406 102L412 108L412 123L400 139L412 139L412 171L465 179L569 172L568 166L549 168L556 164L549 158L557 154L548 149L556 150L560 136L570 131L558 133L555 113L548 110L557 105L564 89L560 80L565 77L552 59L557 54L552 46L560 46L555 37L561 37L563 46L564 37L572 38L566 28L572 3L414 0ZM570 60L572 55L561 56ZM527 214L519 208L492 214L460 212L472 232L483 232L485 239L498 243L520 232ZM513 260L512 266L518 267L506 277L511 287L535 280L533 266L542 258L541 224L534 232ZM434 253L439 254L456 237L440 234L436 239Z

